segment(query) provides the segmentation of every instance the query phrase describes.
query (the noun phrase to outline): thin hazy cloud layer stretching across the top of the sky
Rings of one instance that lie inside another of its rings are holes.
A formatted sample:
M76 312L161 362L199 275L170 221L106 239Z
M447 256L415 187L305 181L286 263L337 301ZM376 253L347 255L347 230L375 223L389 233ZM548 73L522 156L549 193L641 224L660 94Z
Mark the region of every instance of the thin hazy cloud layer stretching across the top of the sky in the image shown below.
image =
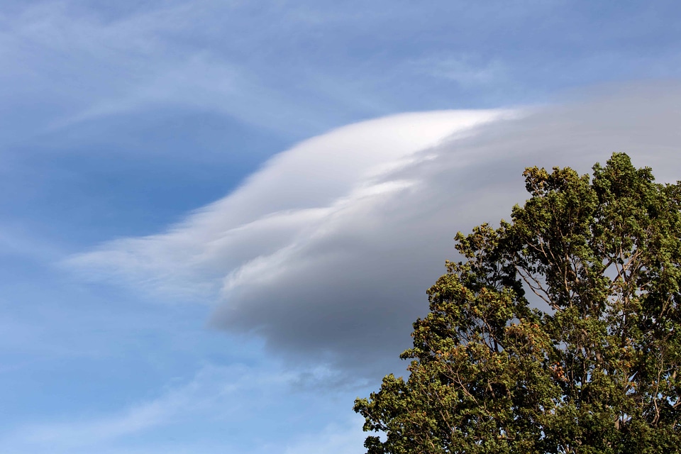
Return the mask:
M96 121L150 111L211 112L300 137L410 108L673 77L680 40L668 21L678 10L672 1L6 0L0 143L66 140L58 131L74 140Z

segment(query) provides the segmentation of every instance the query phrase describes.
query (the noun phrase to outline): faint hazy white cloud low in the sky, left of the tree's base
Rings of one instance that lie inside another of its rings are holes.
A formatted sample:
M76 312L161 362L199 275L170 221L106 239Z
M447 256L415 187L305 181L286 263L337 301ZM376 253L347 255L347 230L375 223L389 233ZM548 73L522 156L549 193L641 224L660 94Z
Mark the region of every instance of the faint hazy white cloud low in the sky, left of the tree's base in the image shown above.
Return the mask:
M307 370L304 373L321 377L325 372ZM314 391L301 393L295 388L297 380L299 372L284 371L276 366L206 364L192 380L186 383L174 380L154 399L128 405L118 411L70 416L68 419L62 415L56 420L3 428L0 430L0 445L3 453L11 454L358 452L358 446L364 439L358 416L343 419L341 425L332 423L318 427L319 423L309 423L304 433L284 440L270 438L265 441L258 436L260 431L275 432L279 417L287 421L305 420L313 417L312 408L323 413L334 407L335 396L326 394L326 400L320 404L316 402L319 395ZM287 402L282 402L282 394L292 394L299 402L297 409L291 409ZM344 395L343 398L350 402ZM312 402L316 402L316 406ZM285 416L280 416L282 414ZM258 427L241 428L243 421L249 420L258 420ZM222 436L201 437L206 427L217 428ZM197 435L178 443L164 431L172 433L177 428ZM236 431L239 431L238 435ZM144 445L138 444L142 435L149 437ZM245 451L238 448L243 439L252 443Z

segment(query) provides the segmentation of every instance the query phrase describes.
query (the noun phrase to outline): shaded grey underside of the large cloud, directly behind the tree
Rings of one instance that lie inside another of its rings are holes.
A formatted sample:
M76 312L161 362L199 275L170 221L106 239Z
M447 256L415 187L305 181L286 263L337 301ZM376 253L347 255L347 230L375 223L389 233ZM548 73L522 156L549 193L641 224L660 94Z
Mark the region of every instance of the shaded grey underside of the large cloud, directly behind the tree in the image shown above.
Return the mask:
M422 159L417 154L377 181L409 184L355 199L322 216L314 231L297 226L305 240L263 256L253 280L234 281L233 270L222 270L224 302L211 326L258 333L288 358L385 372L409 346L411 323L427 313L426 289L444 261L457 258L455 233L509 218L526 199L524 167L589 172L621 151L673 181L681 173L679 105L676 84L629 85L423 150Z

